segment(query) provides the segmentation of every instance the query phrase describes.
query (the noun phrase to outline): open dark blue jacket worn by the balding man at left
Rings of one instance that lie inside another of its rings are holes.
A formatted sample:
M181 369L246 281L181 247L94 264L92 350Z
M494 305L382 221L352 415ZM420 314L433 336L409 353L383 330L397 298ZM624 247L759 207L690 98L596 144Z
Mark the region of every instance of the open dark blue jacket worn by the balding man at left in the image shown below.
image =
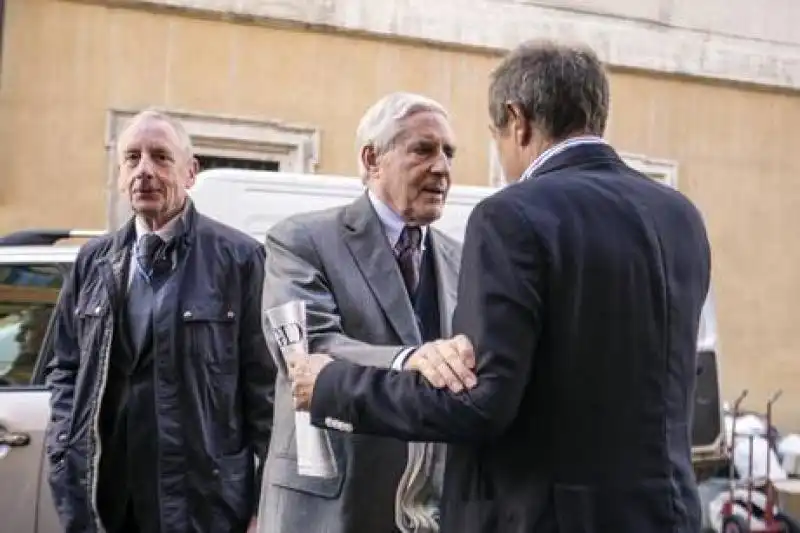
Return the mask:
M154 311L161 530L243 533L257 505L255 460L264 458L272 427L275 367L260 319L264 248L192 205L184 216L176 271ZM65 533L103 531L98 416L134 236L131 220L84 245L55 312L45 445Z

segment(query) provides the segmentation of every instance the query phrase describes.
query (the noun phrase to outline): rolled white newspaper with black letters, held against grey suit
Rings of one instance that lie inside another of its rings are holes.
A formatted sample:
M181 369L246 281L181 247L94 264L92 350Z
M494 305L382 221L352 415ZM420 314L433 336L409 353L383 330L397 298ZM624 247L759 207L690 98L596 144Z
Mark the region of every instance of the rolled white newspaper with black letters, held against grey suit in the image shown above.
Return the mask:
M302 300L292 300L267 309L266 314L269 330L280 347L280 353L273 354L275 363L288 379L288 362L308 357L306 304ZM297 473L308 477L336 477L336 458L328 432L314 427L305 411L295 411L294 426Z

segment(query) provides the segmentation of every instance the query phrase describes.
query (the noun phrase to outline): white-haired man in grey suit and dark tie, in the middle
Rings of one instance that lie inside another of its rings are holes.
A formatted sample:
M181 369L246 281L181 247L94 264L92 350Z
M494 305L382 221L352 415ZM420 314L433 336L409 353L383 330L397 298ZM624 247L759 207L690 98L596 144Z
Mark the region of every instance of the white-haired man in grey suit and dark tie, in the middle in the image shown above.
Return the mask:
M366 192L290 217L268 234L264 308L307 302L309 348L359 364L419 371L431 384L472 387L471 359L419 348L448 338L460 244L430 228L442 214L455 153L447 112L393 93L357 131ZM338 475L297 473L294 408L276 384L260 533L435 533L444 448L331 432Z

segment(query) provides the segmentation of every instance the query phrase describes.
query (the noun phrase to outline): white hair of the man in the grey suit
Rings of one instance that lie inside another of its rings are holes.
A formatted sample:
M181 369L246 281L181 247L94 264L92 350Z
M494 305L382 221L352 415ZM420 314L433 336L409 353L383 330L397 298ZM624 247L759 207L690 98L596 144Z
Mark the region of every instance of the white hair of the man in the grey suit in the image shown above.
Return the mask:
M402 132L403 120L420 112L439 113L448 118L444 106L436 100L406 92L387 94L364 113L356 129L358 172L362 181L366 182L369 175L361 160L361 151L367 146L371 146L376 154L387 151Z

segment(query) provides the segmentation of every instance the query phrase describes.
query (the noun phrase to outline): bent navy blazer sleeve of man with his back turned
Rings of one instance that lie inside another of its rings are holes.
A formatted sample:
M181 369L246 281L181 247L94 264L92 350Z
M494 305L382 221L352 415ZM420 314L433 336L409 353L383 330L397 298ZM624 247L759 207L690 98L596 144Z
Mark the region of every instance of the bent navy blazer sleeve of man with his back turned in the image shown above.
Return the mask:
M517 416L539 337L546 261L534 226L508 200L490 197L467 224L454 332L475 346L478 385L454 394L416 372L334 361L317 378L312 421L330 417L356 433L407 441L480 443Z

